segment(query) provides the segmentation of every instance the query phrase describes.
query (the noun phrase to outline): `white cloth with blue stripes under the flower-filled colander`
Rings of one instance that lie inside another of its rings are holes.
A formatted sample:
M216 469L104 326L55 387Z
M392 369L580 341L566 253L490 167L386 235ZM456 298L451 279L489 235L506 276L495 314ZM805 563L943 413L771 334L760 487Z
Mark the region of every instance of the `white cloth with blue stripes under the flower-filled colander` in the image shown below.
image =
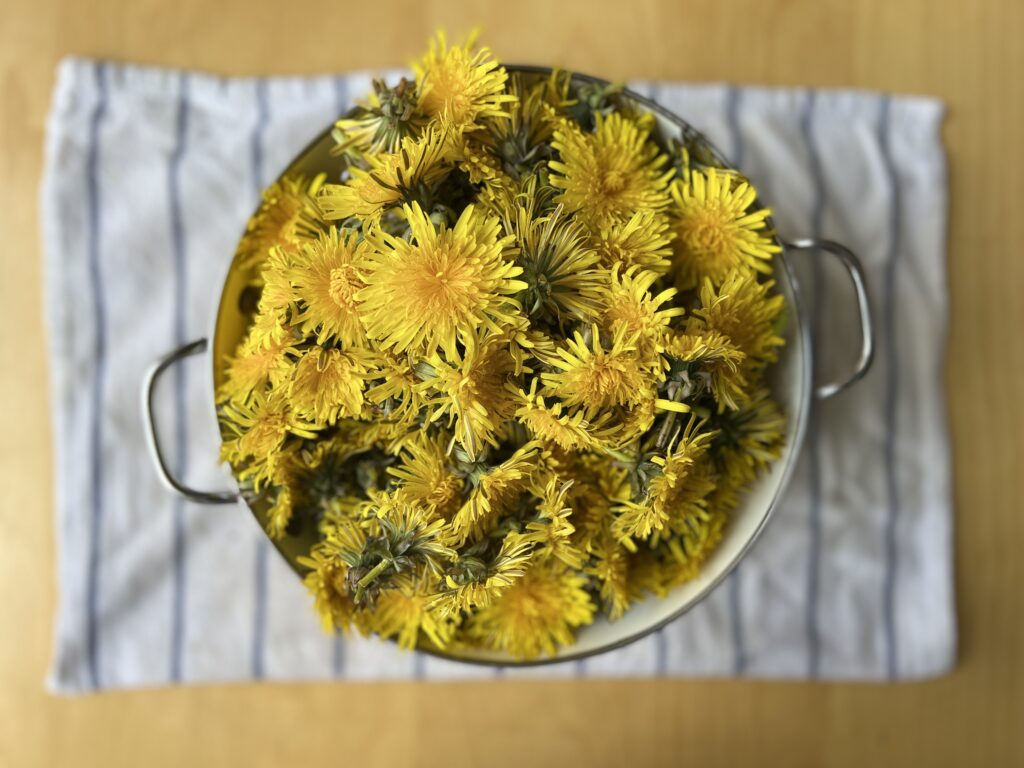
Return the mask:
M879 331L868 376L816 410L758 545L660 632L525 671L331 637L244 507L196 506L163 488L139 415L145 369L208 334L259 189L370 84L369 73L225 79L61 63L42 193L59 578L51 688L948 670L946 173L943 110L931 99L634 84L753 179L784 237L826 237L860 255ZM803 288L824 376L852 365L859 331L844 275L810 261ZM226 477L209 379L198 360L177 367L159 416L176 469L217 489Z

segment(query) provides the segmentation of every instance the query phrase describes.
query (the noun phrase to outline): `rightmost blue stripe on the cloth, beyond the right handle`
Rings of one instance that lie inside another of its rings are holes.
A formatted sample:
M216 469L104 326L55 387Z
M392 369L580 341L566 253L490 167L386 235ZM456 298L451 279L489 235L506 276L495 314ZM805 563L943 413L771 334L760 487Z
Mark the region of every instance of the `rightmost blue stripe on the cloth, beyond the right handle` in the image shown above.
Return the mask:
M899 518L900 497L896 482L898 473L896 460L896 439L898 436L899 419L899 347L896 339L896 266L899 258L902 232L900 215L902 200L899 182L896 177L896 166L893 162L892 145L890 143L891 109L887 96L882 98L882 114L879 121L879 143L882 147L882 160L885 164L886 178L891 190L889 208L889 253L886 255L885 286L883 288L882 322L886 339L886 432L885 465L886 465L886 498L888 514L885 526L886 570L883 582L883 622L886 638L886 673L890 679L895 679L899 673L899 657L896 648L896 575L898 571L898 553L896 549L896 522Z

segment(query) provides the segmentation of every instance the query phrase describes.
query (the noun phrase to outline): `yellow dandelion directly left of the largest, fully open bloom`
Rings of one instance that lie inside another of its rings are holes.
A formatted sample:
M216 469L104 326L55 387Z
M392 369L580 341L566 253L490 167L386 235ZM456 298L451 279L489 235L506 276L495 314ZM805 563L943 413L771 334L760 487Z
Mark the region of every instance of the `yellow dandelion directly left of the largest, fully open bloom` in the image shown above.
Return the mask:
M294 323L316 343L334 338L345 346L362 345L355 294L366 287L359 276L366 252L354 231L332 226L306 243L289 269L293 296L301 302Z

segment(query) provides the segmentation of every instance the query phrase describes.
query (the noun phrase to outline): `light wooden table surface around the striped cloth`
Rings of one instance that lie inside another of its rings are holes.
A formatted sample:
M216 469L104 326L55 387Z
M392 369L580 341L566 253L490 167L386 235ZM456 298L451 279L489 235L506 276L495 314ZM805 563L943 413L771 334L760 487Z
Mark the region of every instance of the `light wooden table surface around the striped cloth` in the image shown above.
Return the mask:
M1024 765L1024 3L1019 0L7 0L0 10L0 765ZM299 10L305 7L306 10ZM379 34L361 32L376 17ZM318 14L313 17L313 13ZM949 105L961 658L902 685L238 685L44 693L55 600L36 213L54 66L224 74L408 62L479 24L505 60L609 79L856 86ZM318 31L318 32L317 32ZM310 39L311 34L316 39ZM11 358L17 355L17 361ZM501 698L492 697L500 693Z

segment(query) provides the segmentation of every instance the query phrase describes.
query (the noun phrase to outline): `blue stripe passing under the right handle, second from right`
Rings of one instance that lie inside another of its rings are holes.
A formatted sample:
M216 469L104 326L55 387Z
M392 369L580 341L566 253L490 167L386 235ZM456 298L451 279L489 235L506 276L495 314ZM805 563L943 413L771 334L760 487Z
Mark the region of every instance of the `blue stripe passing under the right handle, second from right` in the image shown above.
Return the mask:
M824 227L825 181L821 169L821 155L814 138L815 96L808 91L800 118L800 130L807 147L810 164L813 199L811 203L811 237L820 238ZM811 259L811 290L809 297L810 323L813 333L811 365L814 381L820 381L819 343L823 309L825 306L825 282L821 273L821 262ZM807 674L816 678L821 672L821 638L818 628L819 581L821 578L821 430L818 421L818 403L811 403L807 421L807 467L808 467L808 558L807 558L807 602L805 603L804 625L807 633Z

